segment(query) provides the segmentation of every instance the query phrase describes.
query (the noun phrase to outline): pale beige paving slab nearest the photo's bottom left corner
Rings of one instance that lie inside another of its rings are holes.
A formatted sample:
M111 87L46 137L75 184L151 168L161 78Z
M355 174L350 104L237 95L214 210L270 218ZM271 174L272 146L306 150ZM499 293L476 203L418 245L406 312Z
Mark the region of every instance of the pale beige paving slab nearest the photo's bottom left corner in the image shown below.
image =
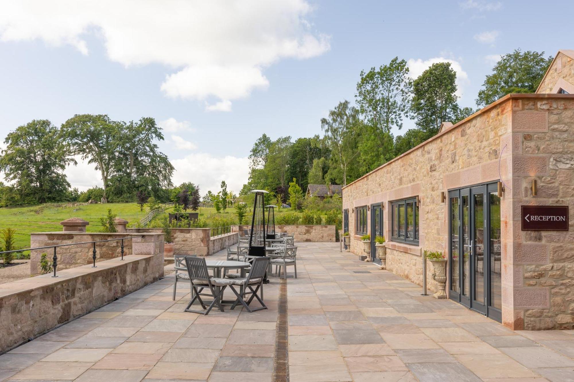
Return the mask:
M74 380L93 362L36 362L11 376L15 380Z

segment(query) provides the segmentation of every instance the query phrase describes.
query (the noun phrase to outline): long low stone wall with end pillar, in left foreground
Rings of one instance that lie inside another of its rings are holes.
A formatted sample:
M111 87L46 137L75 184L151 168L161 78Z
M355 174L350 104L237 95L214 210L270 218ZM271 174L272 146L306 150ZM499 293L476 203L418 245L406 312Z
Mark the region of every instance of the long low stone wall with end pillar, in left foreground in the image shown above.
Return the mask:
M0 354L164 275L161 235L134 242L137 254L0 285Z

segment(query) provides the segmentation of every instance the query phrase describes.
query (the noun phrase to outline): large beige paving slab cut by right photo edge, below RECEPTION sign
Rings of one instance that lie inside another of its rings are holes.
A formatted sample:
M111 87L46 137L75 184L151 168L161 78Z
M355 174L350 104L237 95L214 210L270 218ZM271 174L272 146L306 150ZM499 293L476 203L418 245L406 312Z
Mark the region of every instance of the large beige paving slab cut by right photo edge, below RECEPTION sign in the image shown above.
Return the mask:
M527 368L574 367L574 360L547 349L544 346L522 346L518 348L498 348Z

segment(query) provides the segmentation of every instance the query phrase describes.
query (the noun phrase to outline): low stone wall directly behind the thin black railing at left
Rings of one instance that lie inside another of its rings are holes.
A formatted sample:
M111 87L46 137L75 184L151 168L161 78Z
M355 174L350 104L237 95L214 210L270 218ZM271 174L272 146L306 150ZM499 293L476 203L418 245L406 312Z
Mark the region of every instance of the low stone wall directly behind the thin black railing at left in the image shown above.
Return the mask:
M46 247L48 245L81 243L82 241L108 240L118 237L127 237L126 233L86 233L86 232L37 232L30 233L30 247ZM123 255L132 254L131 240L123 240ZM121 240L106 241L96 243L96 262L109 260L121 256ZM58 256L57 270L79 267L92 264L92 250L94 244L79 244L69 247L58 247L56 255ZM53 248L45 250L36 250L30 252L30 275L40 274L40 256L42 253L48 255L48 260L52 262L54 255Z

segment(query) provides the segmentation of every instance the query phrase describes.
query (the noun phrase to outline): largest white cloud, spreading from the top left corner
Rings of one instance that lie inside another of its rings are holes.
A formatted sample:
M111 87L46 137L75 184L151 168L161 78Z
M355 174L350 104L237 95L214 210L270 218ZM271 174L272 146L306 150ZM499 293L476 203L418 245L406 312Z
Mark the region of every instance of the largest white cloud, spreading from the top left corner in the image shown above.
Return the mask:
M0 3L0 41L42 40L88 54L84 38L95 34L111 61L170 68L166 96L228 111L232 100L269 86L269 65L329 50L329 36L305 20L312 10L305 0L22 0Z

